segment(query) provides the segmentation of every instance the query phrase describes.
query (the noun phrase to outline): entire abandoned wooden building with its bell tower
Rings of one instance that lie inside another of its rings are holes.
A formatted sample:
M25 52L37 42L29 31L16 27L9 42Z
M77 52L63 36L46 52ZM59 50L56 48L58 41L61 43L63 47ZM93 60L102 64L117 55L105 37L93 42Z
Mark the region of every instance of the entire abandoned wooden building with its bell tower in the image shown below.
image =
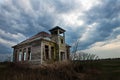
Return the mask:
M39 32L29 39L13 46L13 61L63 61L69 59L70 46L65 43L65 30L59 26L47 32Z

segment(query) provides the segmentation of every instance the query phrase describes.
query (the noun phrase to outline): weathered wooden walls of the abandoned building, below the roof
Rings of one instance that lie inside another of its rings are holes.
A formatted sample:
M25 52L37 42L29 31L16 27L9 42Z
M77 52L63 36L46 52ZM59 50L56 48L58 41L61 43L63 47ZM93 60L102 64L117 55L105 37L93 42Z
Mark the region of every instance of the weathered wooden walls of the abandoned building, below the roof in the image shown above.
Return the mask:
M47 45L49 48L49 51L48 51L49 59L46 59L45 45ZM60 43L58 46L54 42L39 40L39 41L32 42L30 44L15 47L14 62L19 62L20 52L22 53L21 61L30 61L30 58L28 59L28 48L31 48L32 61L40 61L41 63L46 63L47 61L57 61L58 59L61 61L61 56L62 56L61 52L64 52L65 60L69 58L69 48L66 47L65 43ZM53 51L52 51L52 48L54 48ZM26 56L24 53L26 53Z

